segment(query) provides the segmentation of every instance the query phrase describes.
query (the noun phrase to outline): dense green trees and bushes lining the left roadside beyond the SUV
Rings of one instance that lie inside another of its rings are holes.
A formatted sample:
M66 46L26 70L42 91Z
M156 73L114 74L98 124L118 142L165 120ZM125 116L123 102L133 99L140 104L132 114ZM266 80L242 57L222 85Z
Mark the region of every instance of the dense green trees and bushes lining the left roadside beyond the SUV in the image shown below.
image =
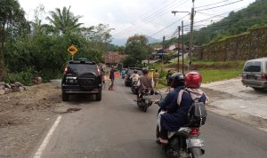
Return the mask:
M60 77L71 59L67 49L78 48L75 59L103 61L102 52L115 49L108 24L83 27L82 16L71 7L56 8L45 14L43 5L34 10L35 20L26 20L17 0L0 1L0 81L32 83L34 76L44 81ZM45 21L44 18L46 18Z

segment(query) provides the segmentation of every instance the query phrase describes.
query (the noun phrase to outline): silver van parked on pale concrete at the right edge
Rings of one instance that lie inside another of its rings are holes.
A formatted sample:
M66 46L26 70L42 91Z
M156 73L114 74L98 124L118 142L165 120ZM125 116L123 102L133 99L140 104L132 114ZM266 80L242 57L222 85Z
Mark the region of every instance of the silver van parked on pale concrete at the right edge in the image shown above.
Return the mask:
M251 59L245 63L242 83L255 90L267 88L267 58Z

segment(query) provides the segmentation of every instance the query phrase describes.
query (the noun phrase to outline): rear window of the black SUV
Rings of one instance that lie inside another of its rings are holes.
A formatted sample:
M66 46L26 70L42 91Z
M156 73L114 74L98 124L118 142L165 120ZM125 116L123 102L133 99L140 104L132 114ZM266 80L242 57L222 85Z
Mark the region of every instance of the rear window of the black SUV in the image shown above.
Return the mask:
M85 74L96 72L96 66L90 64L69 64L69 74Z

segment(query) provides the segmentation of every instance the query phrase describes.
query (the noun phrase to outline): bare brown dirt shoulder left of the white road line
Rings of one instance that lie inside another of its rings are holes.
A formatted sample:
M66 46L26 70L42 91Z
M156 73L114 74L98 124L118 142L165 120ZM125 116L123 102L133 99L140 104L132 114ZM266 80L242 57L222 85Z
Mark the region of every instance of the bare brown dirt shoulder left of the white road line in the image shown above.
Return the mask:
M25 157L56 115L61 90L51 83L0 96L0 157Z

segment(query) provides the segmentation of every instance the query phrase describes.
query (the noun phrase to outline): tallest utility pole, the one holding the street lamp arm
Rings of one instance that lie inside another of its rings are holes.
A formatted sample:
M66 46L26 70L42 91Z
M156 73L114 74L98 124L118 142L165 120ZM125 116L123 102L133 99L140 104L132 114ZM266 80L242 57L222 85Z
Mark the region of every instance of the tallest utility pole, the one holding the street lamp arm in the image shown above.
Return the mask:
M195 14L195 0L192 0L193 6L191 9L191 14L190 14L190 52L189 52L189 71L191 70L191 64L192 64L192 51L193 51L193 25L194 25L194 14Z

